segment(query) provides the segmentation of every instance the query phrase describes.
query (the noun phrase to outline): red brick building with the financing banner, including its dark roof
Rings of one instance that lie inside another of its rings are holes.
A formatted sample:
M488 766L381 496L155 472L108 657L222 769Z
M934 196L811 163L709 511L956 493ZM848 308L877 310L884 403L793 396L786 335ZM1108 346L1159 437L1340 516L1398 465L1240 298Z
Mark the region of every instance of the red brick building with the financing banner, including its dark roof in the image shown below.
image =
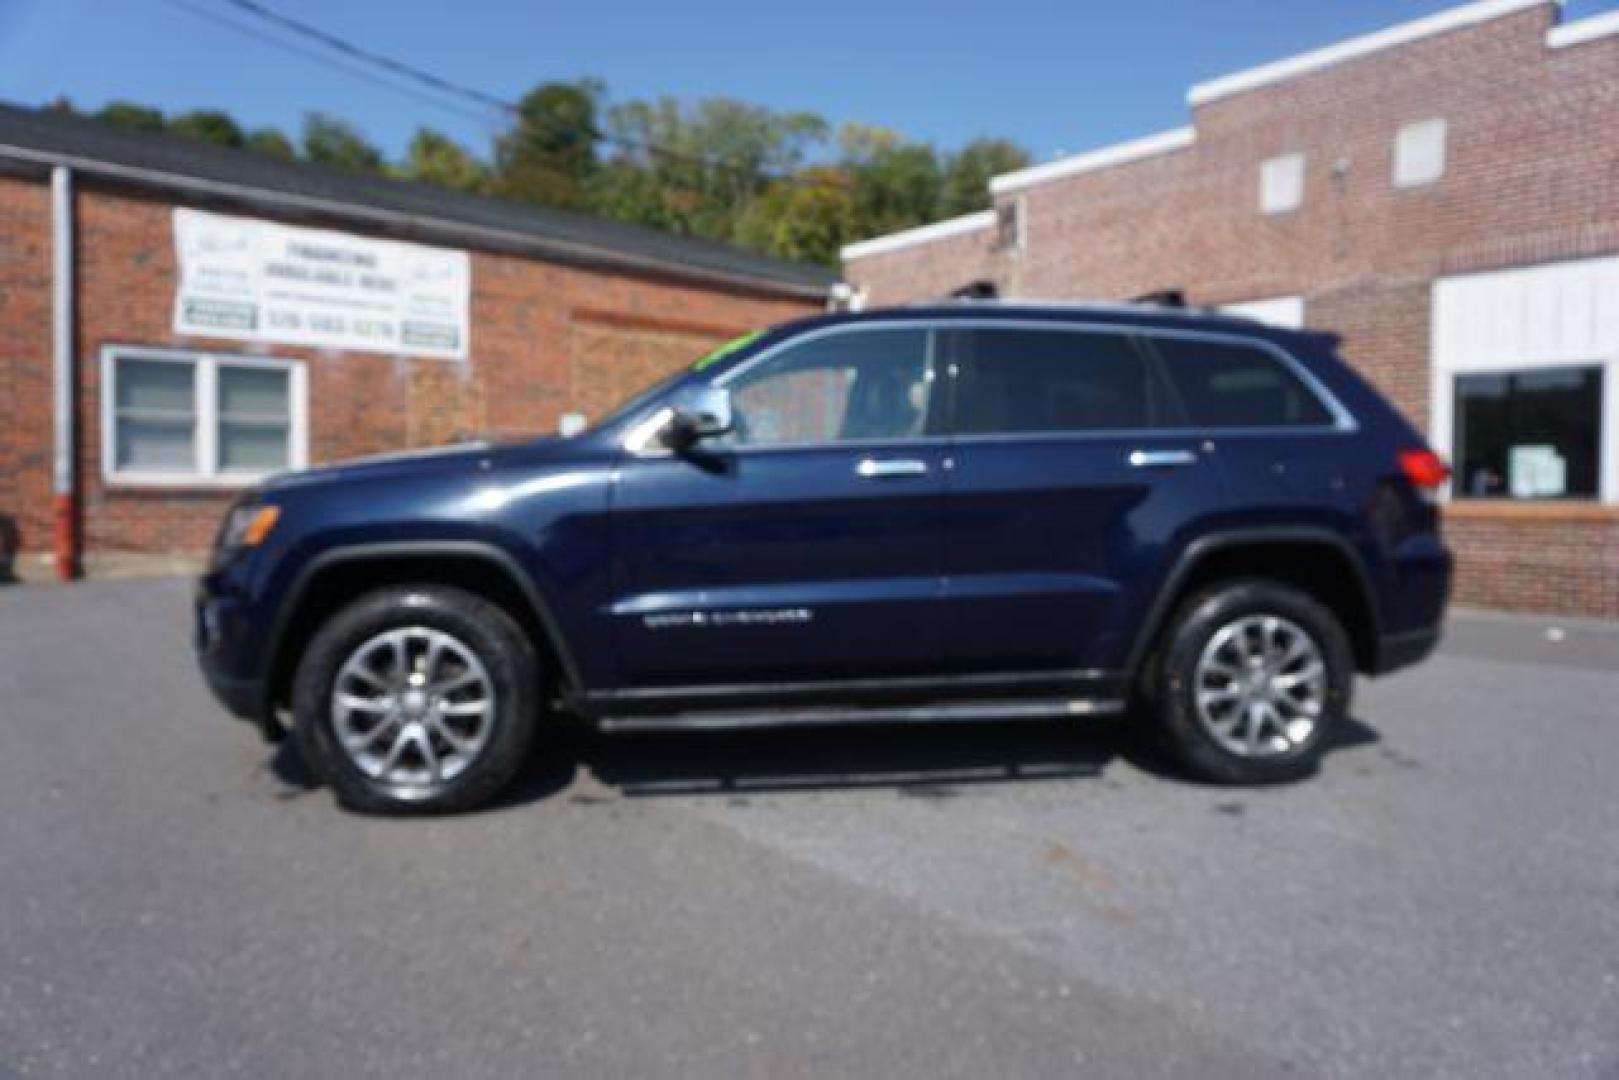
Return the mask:
M834 282L0 107L0 572L191 562L256 476L554 432Z

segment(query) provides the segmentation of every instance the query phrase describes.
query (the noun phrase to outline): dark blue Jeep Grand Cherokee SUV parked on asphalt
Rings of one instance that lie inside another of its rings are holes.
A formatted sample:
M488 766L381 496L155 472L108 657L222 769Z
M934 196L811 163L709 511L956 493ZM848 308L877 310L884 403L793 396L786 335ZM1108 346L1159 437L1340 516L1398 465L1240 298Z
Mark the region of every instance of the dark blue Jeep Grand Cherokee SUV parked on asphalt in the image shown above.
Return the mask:
M1446 466L1334 338L957 303L733 342L573 439L295 473L230 512L196 648L353 808L494 797L604 729L1083 717L1308 772L1436 643Z

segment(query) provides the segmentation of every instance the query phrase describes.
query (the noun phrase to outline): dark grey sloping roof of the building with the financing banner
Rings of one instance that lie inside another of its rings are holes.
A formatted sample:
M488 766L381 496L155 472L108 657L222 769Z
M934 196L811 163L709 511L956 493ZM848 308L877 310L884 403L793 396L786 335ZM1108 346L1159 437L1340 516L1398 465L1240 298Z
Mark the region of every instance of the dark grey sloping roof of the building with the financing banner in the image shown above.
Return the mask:
M68 165L199 206L350 222L429 243L824 298L837 274L729 244L0 104L0 167Z

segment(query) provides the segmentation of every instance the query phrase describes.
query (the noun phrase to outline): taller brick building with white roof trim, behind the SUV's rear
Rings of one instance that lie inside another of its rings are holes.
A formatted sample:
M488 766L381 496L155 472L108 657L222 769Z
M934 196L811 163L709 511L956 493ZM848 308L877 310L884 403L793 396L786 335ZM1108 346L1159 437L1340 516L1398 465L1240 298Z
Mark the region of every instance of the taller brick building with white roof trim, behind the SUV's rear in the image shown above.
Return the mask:
M869 304L992 282L1329 329L1455 463L1468 604L1619 617L1619 11L1483 0L1192 87L1192 125L843 251Z

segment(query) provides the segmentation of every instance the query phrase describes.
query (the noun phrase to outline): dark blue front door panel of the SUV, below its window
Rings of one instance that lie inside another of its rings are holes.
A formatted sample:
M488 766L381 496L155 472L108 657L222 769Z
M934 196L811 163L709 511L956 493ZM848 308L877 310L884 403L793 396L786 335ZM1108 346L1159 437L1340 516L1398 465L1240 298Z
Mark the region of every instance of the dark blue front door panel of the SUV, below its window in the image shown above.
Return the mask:
M612 615L625 685L905 675L936 659L942 449L627 461Z

